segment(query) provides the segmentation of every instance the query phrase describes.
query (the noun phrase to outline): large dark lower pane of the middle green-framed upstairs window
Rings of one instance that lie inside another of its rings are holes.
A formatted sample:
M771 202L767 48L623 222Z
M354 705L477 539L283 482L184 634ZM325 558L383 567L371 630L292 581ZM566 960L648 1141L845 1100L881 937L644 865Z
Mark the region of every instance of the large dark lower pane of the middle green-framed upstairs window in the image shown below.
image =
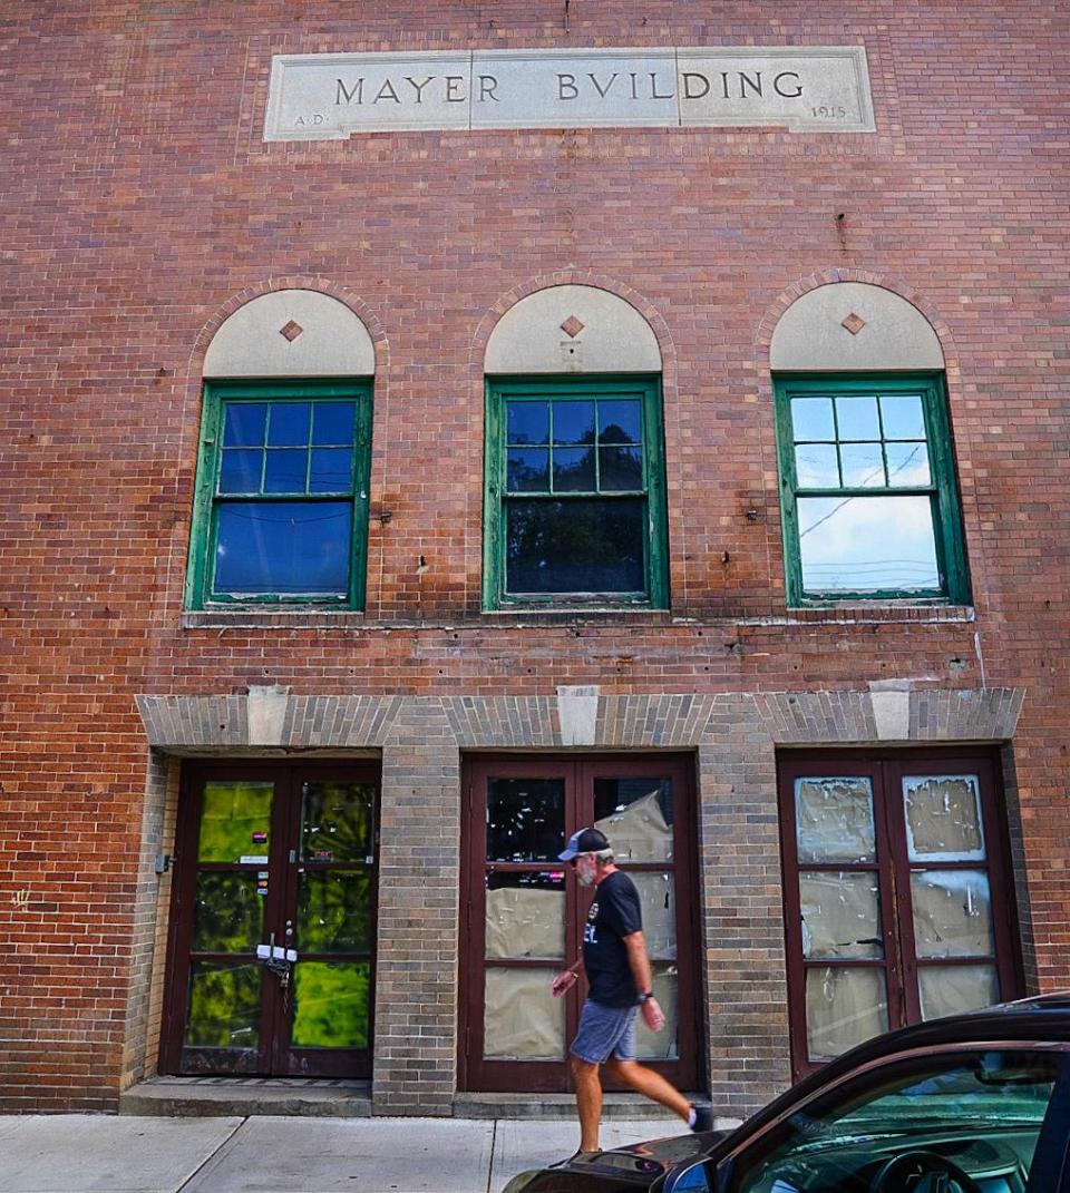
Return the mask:
M509 593L644 593L646 501L509 501Z

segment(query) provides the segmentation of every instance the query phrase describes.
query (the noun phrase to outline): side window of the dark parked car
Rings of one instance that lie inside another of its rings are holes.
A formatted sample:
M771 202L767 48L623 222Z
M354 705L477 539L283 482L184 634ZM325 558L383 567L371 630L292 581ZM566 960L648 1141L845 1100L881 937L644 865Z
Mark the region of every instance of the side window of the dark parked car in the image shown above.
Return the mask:
M1026 1193L1062 1057L954 1050L883 1065L739 1152L728 1193Z

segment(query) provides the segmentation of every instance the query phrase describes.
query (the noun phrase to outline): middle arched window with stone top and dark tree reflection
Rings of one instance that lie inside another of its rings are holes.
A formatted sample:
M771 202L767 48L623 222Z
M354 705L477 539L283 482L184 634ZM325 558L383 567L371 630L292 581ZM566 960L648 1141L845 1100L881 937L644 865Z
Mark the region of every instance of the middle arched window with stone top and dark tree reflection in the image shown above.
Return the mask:
M486 352L484 606L669 602L662 358L604 290L541 290Z

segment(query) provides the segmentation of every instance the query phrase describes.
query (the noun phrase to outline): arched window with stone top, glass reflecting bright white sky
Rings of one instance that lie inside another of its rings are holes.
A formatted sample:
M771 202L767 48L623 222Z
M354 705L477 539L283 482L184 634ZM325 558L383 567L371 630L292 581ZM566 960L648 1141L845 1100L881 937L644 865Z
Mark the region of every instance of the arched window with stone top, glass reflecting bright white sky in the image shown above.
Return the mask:
M940 341L862 283L799 298L770 345L789 605L970 599Z

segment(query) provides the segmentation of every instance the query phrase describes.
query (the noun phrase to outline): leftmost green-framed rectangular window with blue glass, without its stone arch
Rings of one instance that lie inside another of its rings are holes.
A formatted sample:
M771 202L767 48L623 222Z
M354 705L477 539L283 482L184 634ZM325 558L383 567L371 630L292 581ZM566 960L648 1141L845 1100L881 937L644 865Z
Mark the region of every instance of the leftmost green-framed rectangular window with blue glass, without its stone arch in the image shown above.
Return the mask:
M370 443L370 381L207 382L186 608L363 608Z

